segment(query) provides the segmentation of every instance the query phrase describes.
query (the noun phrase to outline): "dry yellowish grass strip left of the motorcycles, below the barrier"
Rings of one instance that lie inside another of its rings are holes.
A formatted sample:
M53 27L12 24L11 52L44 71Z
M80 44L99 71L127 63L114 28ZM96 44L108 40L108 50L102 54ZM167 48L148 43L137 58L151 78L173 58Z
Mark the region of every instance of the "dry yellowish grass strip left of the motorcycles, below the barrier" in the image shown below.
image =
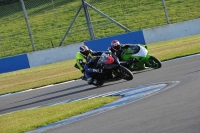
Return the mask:
M73 67L74 64L75 60L69 60L1 74L0 94L77 79L81 73Z

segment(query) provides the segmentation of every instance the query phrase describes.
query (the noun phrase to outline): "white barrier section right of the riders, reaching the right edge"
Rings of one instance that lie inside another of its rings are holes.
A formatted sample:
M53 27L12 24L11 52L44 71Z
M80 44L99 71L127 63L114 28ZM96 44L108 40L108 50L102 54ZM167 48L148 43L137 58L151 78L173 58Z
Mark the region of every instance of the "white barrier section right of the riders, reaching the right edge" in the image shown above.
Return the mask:
M200 18L143 30L146 44L196 34L200 34Z

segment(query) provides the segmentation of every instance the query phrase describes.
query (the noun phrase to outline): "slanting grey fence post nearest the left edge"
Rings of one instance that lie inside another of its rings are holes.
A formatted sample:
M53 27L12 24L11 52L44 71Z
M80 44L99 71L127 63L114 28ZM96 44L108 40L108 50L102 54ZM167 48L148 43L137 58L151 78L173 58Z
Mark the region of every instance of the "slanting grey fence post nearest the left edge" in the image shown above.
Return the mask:
M26 20L26 25L27 25L27 28L28 28L28 33L29 33L29 36L30 36L30 39L31 39L32 48L33 48L33 51L36 51L35 45L34 45L34 40L33 40L33 37L32 37L31 27L29 25L28 16L26 14L26 8L25 8L25 5L24 5L24 1L20 0L20 2L21 2L21 5L22 5L23 13L24 13L24 18Z

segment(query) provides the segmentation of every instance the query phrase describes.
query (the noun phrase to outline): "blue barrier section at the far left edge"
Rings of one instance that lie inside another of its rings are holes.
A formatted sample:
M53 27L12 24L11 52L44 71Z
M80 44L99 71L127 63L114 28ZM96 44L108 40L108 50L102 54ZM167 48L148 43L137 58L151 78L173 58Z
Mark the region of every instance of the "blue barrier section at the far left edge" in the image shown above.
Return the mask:
M27 54L0 59L0 73L30 68Z

